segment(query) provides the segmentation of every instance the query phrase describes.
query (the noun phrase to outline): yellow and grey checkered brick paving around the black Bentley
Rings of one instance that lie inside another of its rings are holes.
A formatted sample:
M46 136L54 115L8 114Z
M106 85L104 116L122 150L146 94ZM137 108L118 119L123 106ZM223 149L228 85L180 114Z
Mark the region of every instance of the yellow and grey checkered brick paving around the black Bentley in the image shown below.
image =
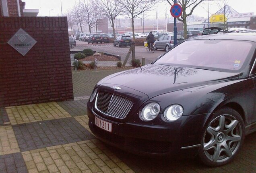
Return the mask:
M95 84L120 70L72 72L74 101L0 109L1 173L255 173L256 133L223 167L197 159L149 158L109 147L90 132L86 104Z

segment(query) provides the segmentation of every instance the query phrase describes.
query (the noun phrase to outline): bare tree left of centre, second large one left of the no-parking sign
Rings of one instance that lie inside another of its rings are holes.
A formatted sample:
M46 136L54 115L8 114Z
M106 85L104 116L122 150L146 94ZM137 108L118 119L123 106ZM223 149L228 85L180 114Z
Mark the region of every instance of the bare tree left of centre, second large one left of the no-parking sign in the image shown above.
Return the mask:
M100 10L101 12L108 18L110 22L110 26L113 29L114 38L115 34L115 20L116 17L122 14L123 6L120 4L118 0L100 0Z

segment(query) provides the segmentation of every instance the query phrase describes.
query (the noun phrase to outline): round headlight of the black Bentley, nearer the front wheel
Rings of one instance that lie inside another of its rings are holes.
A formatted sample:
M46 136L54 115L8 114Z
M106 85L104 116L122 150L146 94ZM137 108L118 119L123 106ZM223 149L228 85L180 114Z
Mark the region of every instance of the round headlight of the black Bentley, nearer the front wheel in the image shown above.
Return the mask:
M182 116L183 112L184 112L183 107L181 105L175 104L167 107L165 109L165 112L163 113L163 116L168 121L175 121Z

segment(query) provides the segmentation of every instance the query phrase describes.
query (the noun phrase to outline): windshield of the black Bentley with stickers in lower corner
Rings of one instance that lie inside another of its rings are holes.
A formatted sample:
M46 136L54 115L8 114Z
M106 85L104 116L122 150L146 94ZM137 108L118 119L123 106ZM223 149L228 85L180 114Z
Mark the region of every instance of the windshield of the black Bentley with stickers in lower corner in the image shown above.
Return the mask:
M252 42L241 40L188 40L154 64L235 72L242 68L252 45Z

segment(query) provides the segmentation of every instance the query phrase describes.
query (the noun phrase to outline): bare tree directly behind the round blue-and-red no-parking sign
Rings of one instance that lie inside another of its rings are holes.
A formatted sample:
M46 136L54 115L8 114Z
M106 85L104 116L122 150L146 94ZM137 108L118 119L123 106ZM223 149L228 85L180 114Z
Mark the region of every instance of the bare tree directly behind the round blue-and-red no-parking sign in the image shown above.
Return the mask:
M187 17L192 15L194 9L204 0L177 0L178 4L182 6L182 15L177 18L179 21L183 22L184 38L187 38ZM167 0L167 2L172 6L174 0ZM190 10L189 13L187 11Z

